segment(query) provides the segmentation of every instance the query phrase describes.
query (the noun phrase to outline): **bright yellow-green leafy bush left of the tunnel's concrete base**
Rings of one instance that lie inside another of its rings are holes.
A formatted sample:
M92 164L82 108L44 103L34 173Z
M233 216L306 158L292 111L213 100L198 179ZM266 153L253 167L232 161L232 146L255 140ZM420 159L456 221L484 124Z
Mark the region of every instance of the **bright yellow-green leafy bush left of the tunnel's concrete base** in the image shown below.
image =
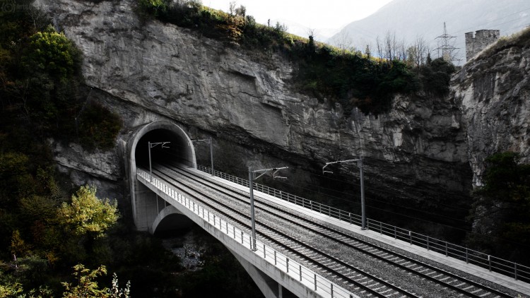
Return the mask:
M105 232L117 222L117 202L110 203L107 198L100 200L95 191L94 186L81 186L72 195L71 203L61 205L57 220L66 230L77 236L88 234L98 238L105 236Z

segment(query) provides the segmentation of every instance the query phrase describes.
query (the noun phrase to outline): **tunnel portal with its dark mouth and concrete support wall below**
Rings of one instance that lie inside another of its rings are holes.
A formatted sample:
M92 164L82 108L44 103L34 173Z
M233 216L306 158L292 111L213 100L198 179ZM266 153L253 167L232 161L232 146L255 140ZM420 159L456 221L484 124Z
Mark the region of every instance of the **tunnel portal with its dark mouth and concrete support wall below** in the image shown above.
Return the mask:
M164 205L158 196L136 179L137 167L148 169L148 142L170 142L169 148L160 145L151 148L151 160L155 162L162 155L175 162L196 168L195 150L192 140L177 124L170 121L154 121L136 128L127 141L126 171L129 176L134 224L141 231L154 232L153 223ZM162 220L163 217L160 217ZM160 223L160 220L158 223ZM157 223L157 225L158 225Z

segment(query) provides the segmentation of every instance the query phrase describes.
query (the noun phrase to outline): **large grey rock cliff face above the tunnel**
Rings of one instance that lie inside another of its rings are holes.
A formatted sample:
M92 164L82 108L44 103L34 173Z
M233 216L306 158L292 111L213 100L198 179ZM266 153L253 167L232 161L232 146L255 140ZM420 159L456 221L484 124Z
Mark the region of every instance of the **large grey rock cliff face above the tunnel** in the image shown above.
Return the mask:
M290 88L295 66L288 59L228 47L155 20L143 23L134 3L35 2L82 50L86 83L95 90L90 96L121 114L124 134L148 121L172 119L192 137L214 136L216 157L242 167L283 159L319 169L324 162L364 155L372 191L420 200L425 193L411 188L460 195L471 188L470 129L456 102L398 96L387 114L354 110L345 118L341 107ZM57 151L60 160L66 153ZM118 151L111 154L117 156L109 160L122 160ZM107 179L120 171L110 169Z

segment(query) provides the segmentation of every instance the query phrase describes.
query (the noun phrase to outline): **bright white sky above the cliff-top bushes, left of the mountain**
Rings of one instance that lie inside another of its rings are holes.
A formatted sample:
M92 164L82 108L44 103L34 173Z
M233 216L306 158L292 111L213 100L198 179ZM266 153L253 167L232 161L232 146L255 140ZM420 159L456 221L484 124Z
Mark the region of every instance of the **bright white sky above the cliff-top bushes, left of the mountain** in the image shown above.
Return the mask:
M234 0L202 0L211 8L227 11ZM258 23L290 20L307 28L342 28L344 25L375 13L391 0L237 0L247 8L247 15Z

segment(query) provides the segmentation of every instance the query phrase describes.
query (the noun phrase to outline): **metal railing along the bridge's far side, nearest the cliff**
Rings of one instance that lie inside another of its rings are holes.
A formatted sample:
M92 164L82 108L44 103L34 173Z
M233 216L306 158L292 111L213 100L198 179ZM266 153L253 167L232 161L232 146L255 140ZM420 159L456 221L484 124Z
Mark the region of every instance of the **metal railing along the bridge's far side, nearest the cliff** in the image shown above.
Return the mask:
M198 165L197 169L202 172L211 174L211 169L209 167ZM215 176L231 181L235 184L240 184L242 186L249 187L248 180L235 177L230 174L215 171ZM324 205L322 203L310 201L306 198L301 198L300 196L295 196L293 194L286 193L285 191L279 191L278 189L272 189L269 186L264 186L257 183L254 183L254 190L261 191L262 193L266 193L270 196L275 196L276 198L279 198L283 201L288 201L290 203L300 205L304 208L308 208L318 213L337 218L338 220L348 222L352 225L361 225L361 217L357 214L334 208L329 205ZM394 237L394 239L399 239L404 242L408 242L411 245L423 247L428 251L435 251L437 253L444 254L447 257L457 258L458 260L465 261L466 263L480 266L482 268L487 268L490 271L500 273L502 275L507 275L511 278L514 278L515 280L530 282L530 267L528 266L514 263L512 261L507 261L502 258L497 258L489 254L484 254L480 251L468 249L467 247L452 244L450 242L445 242L443 240L432 238L424 234L412 232L411 230L402 229L401 227L388 225L384 222L370 220L369 218L367 218L366 220L366 227L368 230L372 230L375 232L379 232L379 234Z

